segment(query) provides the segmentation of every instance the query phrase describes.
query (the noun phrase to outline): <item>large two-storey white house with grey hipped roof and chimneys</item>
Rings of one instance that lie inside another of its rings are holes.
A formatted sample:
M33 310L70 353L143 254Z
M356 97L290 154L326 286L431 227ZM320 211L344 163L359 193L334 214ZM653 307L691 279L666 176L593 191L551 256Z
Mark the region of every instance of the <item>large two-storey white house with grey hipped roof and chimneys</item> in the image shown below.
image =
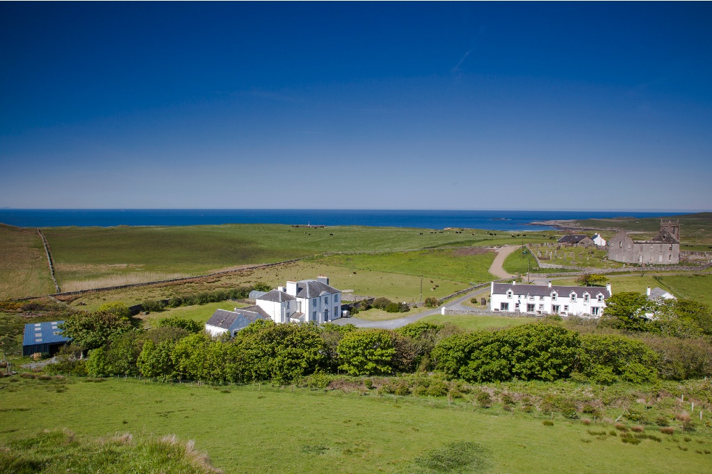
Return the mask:
M275 323L326 323L341 317L341 291L329 286L327 276L287 281L287 286L268 291L255 301Z

